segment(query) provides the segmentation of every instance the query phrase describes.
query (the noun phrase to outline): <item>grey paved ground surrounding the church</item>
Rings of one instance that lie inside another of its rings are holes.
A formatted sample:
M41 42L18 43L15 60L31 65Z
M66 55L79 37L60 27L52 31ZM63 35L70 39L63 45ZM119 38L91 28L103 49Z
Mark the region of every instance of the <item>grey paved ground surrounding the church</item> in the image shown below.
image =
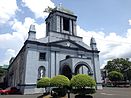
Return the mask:
M51 96L41 96L42 94L34 95L0 95L0 98L52 98ZM97 90L97 93L92 95L93 98L131 98L131 88L104 88ZM62 98L68 98L67 96ZM75 98L74 94L70 94L70 98Z

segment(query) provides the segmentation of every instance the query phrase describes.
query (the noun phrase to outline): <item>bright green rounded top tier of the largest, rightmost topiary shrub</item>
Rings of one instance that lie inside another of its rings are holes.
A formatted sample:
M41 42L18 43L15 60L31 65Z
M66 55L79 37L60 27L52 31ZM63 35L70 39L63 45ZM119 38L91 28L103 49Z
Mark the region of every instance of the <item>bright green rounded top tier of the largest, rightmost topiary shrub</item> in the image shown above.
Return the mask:
M96 83L95 80L87 74L77 74L71 79L70 85L76 88L93 88L96 85Z

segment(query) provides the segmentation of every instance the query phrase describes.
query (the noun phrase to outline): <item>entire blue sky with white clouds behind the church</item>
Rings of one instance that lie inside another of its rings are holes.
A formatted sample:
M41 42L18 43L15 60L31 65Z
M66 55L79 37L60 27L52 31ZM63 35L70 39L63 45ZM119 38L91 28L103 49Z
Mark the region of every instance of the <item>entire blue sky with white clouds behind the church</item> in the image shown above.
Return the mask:
M131 60L131 0L0 0L0 65L18 54L31 24L37 39L45 36L43 11L60 3L77 16L77 35L87 45L96 39L101 68L115 58Z

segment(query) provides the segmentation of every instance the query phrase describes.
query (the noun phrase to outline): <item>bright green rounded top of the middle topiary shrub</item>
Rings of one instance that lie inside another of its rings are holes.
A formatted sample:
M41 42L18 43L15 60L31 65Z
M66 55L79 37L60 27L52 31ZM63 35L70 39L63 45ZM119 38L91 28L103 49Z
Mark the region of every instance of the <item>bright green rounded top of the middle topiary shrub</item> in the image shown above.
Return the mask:
M67 87L70 85L70 80L64 75L57 75L51 79L51 86L52 87Z

